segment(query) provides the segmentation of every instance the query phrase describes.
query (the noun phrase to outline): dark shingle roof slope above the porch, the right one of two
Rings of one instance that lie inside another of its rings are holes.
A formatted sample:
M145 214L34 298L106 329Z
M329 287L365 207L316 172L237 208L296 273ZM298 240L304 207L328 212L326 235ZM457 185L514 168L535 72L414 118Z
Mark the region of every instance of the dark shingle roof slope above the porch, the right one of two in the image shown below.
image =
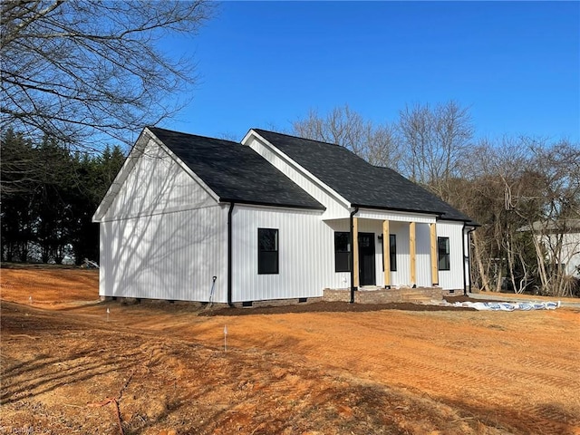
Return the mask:
M471 221L394 170L373 166L344 147L273 131L254 131L355 206L431 212L442 218Z

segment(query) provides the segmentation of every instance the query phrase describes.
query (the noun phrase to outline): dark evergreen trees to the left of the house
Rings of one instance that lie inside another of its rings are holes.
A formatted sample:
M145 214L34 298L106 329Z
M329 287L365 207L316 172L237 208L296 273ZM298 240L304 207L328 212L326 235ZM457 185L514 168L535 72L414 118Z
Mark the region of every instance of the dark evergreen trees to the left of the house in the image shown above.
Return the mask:
M2 260L98 261L92 215L121 169L121 147L71 151L54 138L36 142L11 129L0 140Z

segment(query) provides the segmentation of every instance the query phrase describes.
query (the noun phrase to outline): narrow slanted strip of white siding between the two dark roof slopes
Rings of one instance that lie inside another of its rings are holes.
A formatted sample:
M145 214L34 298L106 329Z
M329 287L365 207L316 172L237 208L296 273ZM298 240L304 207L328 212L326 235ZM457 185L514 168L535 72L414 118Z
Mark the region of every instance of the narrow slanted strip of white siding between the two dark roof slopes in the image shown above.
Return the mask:
M348 217L349 204L336 193L332 193L329 188L315 184L313 179L308 179L302 172L291 166L286 160L282 159L279 154L257 140L256 137L251 137L250 140L244 142L245 145L255 150L264 159L268 160L275 168L279 169L286 177L292 179L298 186L308 192L313 198L324 205L324 219L345 218Z

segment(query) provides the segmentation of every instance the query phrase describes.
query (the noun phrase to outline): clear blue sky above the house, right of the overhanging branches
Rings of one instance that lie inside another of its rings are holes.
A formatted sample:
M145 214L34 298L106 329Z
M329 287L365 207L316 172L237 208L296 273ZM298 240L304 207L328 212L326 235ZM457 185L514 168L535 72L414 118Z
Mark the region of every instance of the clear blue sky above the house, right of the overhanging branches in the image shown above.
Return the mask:
M166 47L199 80L160 127L240 140L310 109L392 122L455 100L477 137L580 141L579 2L226 2Z

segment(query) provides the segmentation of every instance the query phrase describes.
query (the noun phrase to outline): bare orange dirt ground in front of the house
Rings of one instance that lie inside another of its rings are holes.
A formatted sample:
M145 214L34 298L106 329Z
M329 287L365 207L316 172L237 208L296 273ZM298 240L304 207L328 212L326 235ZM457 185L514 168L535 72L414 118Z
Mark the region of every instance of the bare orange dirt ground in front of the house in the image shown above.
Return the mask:
M207 316L97 286L0 271L0 434L580 434L577 308Z

